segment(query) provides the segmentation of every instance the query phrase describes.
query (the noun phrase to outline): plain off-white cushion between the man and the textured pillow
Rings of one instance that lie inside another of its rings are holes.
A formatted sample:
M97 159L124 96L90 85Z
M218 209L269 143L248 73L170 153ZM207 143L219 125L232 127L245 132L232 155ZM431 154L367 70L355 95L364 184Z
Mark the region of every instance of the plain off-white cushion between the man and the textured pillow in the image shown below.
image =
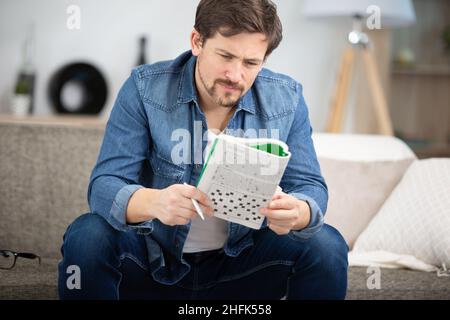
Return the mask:
M313 141L329 191L325 222L352 248L416 156L389 136L315 133Z

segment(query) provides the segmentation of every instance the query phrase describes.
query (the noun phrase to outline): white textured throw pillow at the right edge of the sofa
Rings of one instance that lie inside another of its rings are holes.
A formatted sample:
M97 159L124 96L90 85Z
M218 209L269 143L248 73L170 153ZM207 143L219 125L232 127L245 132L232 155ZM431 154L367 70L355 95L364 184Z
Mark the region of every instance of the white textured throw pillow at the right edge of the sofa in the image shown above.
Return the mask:
M353 247L450 266L450 159L414 162Z

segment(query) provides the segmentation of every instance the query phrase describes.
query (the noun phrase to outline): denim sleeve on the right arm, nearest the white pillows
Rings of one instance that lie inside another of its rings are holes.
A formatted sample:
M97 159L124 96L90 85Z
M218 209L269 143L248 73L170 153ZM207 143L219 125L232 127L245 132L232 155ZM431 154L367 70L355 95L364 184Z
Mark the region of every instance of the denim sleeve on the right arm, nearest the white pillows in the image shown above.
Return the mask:
M300 85L297 90L299 101L286 141L291 152L291 159L280 186L285 193L308 203L311 209L309 225L300 231L292 231L293 235L307 239L319 231L323 225L328 202L328 189L314 150L308 108Z

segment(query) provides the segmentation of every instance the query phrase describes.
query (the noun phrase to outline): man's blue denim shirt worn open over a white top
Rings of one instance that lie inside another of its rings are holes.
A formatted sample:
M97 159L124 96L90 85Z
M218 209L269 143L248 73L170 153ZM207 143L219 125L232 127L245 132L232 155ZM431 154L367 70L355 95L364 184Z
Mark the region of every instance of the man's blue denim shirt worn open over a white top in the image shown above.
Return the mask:
M195 64L196 57L188 51L175 60L132 70L111 111L88 188L91 212L102 215L117 230L145 235L150 272L164 284L178 282L190 270L182 257L190 224L168 226L154 219L132 225L125 216L128 201L138 189L192 183L201 170L203 158L194 145L203 140L207 123L195 87ZM191 138L197 136L187 143L192 148L181 163L171 160L180 144L174 134L177 129L189 132ZM286 142L292 154L280 186L285 193L306 201L311 209L310 224L288 236L298 240L316 233L323 225L328 192L311 139L301 85L263 68L239 100L227 129L242 129L243 136L252 131L248 129L267 129L269 137L273 129L278 130L276 138ZM201 149L205 145L202 141ZM266 221L263 227L267 228ZM235 257L251 246L253 232L228 223L225 254Z

